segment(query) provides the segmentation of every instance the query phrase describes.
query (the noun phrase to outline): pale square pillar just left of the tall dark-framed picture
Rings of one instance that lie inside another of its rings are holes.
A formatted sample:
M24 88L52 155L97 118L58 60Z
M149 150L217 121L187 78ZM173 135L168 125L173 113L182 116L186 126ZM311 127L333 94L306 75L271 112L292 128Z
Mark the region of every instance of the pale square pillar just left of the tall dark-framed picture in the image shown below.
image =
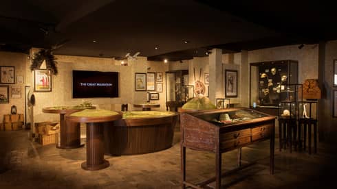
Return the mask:
M217 98L222 98L222 50L212 49L209 57L209 99L217 103Z

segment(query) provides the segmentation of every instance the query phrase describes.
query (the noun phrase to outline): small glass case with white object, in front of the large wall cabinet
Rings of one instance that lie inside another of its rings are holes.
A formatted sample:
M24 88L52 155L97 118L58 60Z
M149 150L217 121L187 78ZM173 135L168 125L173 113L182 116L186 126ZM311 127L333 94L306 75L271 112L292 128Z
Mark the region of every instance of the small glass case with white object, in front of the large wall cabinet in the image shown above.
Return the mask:
M281 86L279 117L299 118L298 102L302 101L302 84L287 84Z

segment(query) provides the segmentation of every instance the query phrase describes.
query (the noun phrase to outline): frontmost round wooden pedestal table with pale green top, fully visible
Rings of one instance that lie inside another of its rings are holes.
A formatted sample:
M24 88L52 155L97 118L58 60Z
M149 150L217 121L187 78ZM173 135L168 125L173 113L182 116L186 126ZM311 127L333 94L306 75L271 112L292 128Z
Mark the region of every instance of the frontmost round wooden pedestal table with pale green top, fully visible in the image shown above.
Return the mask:
M122 113L109 110L83 110L67 114L69 121L87 124L87 161L82 163L85 170L99 170L109 166L104 159L103 123L122 118Z

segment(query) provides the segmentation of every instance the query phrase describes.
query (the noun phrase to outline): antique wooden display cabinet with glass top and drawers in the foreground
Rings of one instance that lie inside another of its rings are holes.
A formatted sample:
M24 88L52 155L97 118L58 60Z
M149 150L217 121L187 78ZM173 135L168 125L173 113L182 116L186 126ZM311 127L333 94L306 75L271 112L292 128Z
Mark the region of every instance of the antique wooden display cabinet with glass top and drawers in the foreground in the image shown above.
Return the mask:
M241 165L241 147L263 140L270 140L270 174L273 174L274 128L275 116L246 108L181 112L182 188L209 187L208 184L212 181L215 181L215 188L221 188L221 153L239 149L236 169L239 170L249 166ZM203 181L202 184L186 180L186 160L191 160L186 158L186 148L215 153L215 178Z

